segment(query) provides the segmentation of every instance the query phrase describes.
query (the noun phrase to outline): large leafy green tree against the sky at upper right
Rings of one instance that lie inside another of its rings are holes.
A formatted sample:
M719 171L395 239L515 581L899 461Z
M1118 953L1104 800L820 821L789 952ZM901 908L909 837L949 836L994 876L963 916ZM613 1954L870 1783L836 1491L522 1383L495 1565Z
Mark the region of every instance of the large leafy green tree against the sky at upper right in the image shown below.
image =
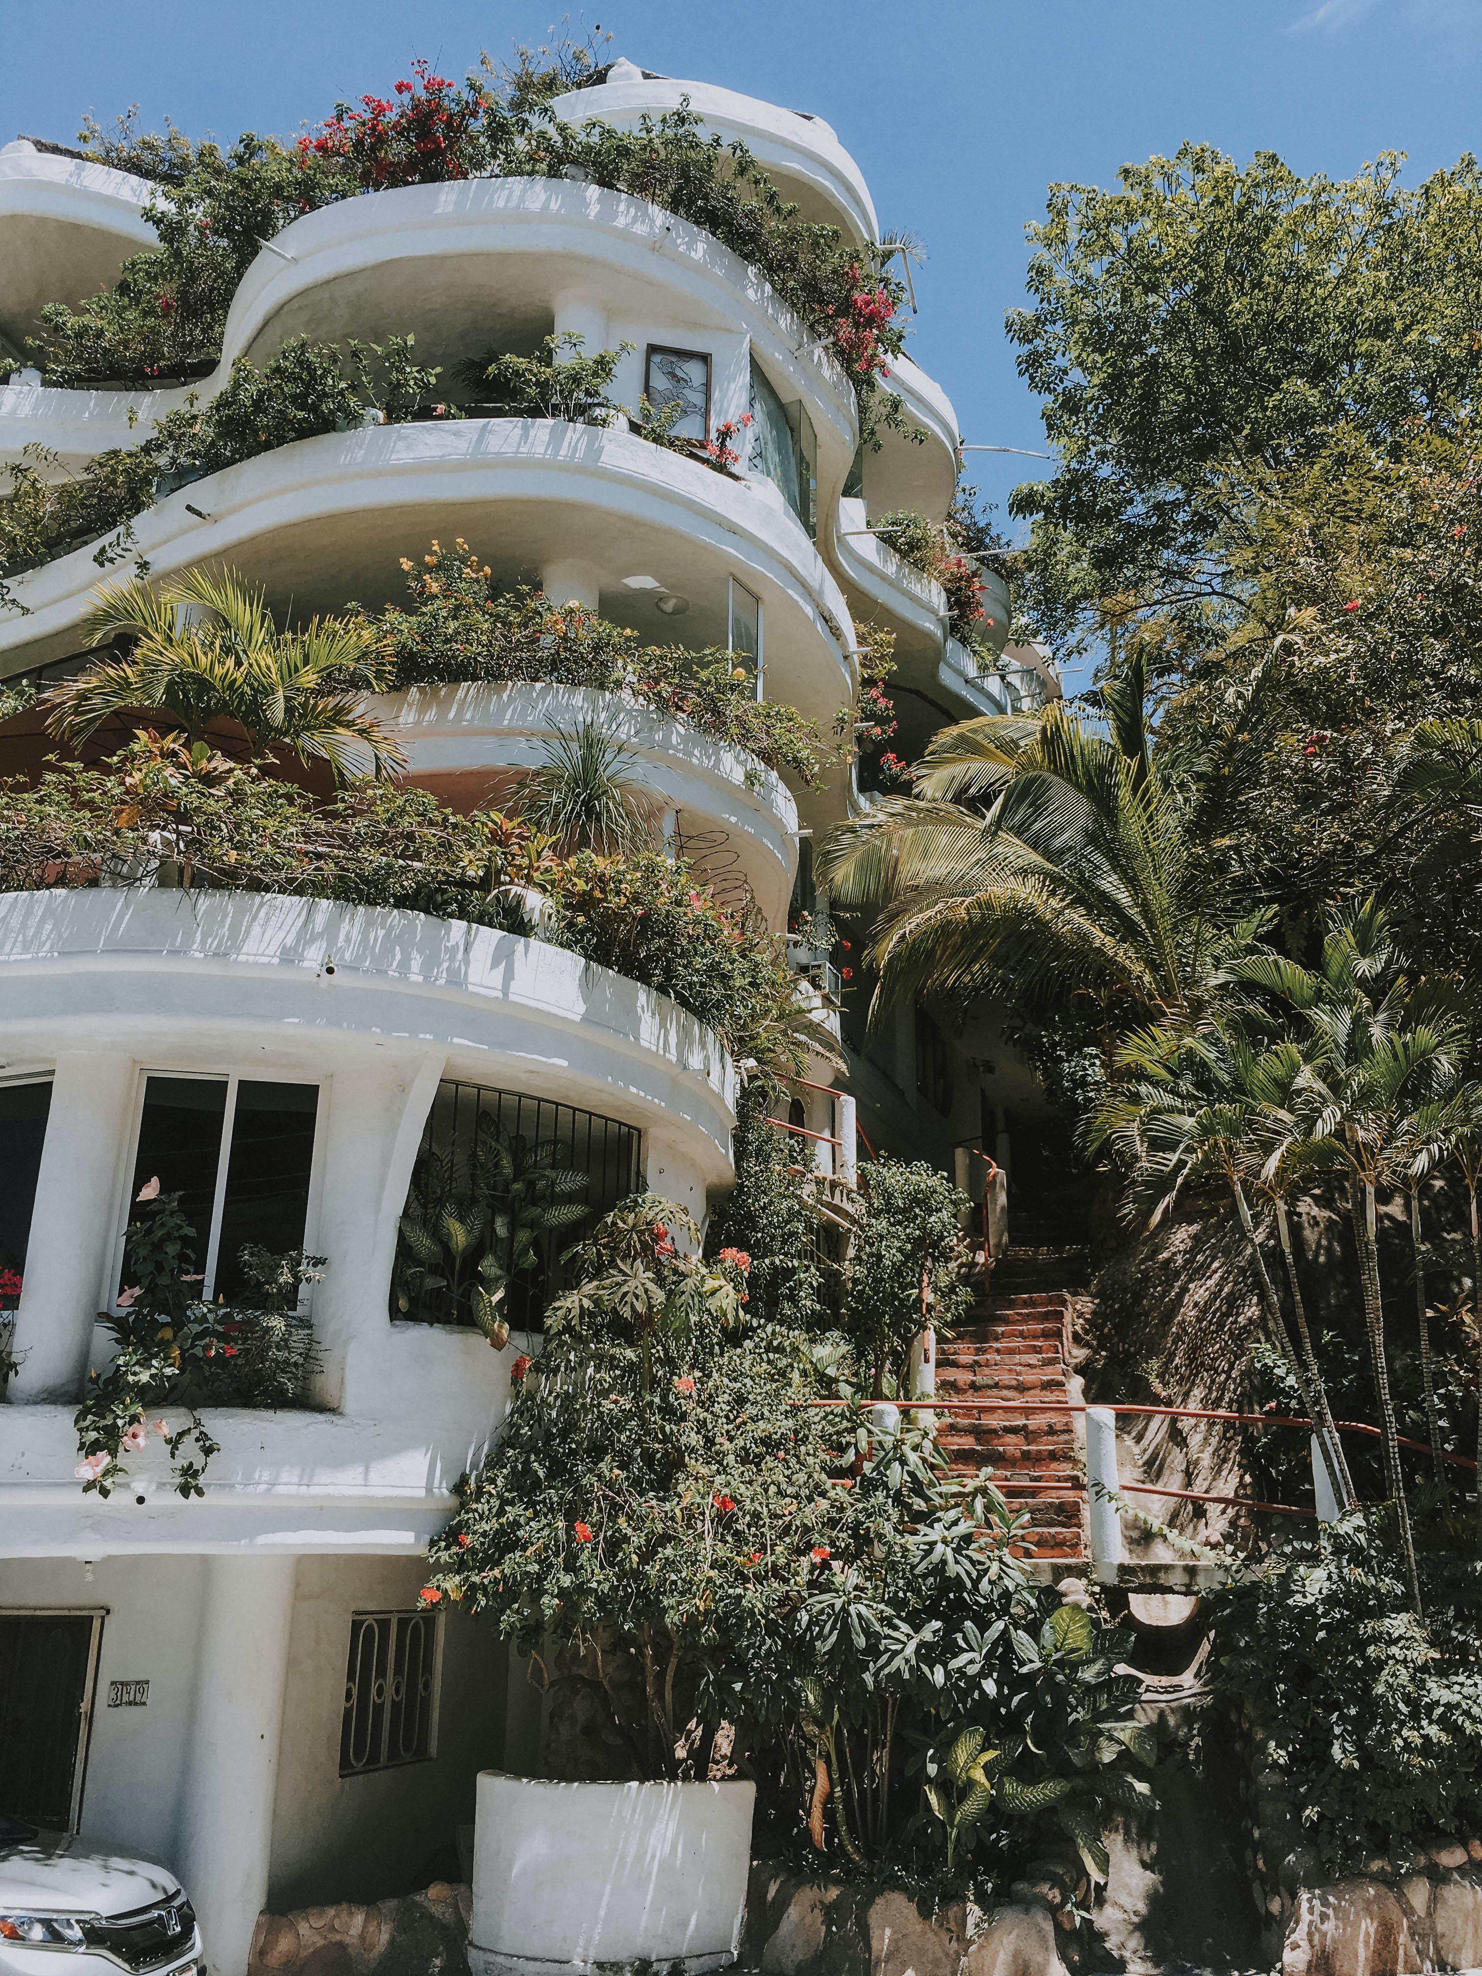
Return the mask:
M1099 634L1124 591L1219 618L1245 534L1231 470L1300 468L1346 425L1456 431L1482 366L1482 172L1466 156L1409 190L1399 166L1302 178L1186 144L1114 190L1051 186L1033 302L1008 318L1059 454L1010 502L1041 634Z

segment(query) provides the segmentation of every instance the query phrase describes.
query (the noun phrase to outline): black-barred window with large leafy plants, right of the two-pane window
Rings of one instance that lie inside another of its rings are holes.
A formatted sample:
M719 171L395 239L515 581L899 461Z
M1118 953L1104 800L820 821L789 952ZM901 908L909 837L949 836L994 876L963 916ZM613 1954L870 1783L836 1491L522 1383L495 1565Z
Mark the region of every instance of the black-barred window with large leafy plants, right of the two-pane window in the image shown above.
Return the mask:
M601 1112L577 1111L551 1099L443 1079L411 1174L411 1194L419 1201L429 1199L433 1174L451 1176L454 1195L466 1194L480 1116L488 1118L508 1144L524 1142L530 1154L553 1146L559 1166L587 1176L585 1192L575 1195L587 1209L585 1219L537 1235L534 1265L510 1286L506 1306L510 1326L535 1332L549 1300L565 1288L563 1251L618 1201L638 1192L640 1132L618 1118L603 1118ZM447 1269L431 1271L433 1276L441 1275L443 1282L429 1282L427 1273L417 1275L415 1261L403 1229L391 1276L391 1316L417 1324L472 1324L466 1290L476 1280L478 1255L468 1255L456 1282Z

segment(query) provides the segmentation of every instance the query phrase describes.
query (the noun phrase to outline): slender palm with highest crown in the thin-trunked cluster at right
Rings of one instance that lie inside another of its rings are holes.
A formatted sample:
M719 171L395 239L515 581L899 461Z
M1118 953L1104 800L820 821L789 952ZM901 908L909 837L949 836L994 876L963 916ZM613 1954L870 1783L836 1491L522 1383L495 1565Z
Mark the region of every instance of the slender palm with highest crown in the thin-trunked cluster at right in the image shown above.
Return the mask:
M1456 1079L1460 1026L1441 998L1411 986L1389 921L1373 899L1328 933L1318 968L1263 952L1237 962L1233 972L1276 996L1304 1022L1316 1045L1300 1095L1296 1144L1306 1158L1328 1162L1348 1178L1385 1480L1399 1522L1411 1606L1419 1614L1415 1539L1385 1356L1375 1201L1379 1188L1403 1190L1409 1184L1417 1114Z

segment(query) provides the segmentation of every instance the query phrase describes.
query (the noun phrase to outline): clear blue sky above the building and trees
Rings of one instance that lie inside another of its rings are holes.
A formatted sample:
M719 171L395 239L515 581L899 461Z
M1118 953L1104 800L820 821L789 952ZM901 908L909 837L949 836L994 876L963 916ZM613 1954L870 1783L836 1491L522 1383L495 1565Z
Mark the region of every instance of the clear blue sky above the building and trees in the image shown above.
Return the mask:
M543 40L557 16L539 4L0 0L0 140L69 142L83 111L130 101L192 134L292 134L413 55L456 75L480 47ZM599 0L571 18L644 67L836 126L883 225L925 241L913 354L984 445L1043 445L1004 310L1051 180L1109 184L1184 138L1334 176L1405 150L1423 176L1482 136L1482 0ZM998 500L1043 470L970 466Z

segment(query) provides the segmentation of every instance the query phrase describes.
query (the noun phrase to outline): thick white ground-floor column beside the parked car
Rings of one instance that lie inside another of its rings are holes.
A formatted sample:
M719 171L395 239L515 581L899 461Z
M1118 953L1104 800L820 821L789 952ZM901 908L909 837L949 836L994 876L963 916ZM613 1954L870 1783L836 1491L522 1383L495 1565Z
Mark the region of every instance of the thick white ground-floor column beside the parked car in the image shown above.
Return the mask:
M206 1559L176 1857L211 1976L247 1976L267 1905L294 1557Z

